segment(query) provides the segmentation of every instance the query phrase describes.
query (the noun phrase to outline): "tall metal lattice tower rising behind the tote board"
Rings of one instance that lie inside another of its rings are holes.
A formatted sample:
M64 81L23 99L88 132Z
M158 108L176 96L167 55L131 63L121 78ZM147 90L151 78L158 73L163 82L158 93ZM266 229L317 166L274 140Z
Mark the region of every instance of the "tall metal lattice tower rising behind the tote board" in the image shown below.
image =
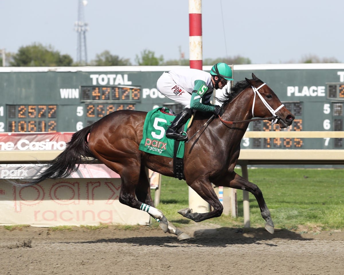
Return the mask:
M86 32L88 31L88 24L84 18L86 5L87 0L78 0L78 21L74 23L74 29L77 32L76 61L80 65L87 65Z

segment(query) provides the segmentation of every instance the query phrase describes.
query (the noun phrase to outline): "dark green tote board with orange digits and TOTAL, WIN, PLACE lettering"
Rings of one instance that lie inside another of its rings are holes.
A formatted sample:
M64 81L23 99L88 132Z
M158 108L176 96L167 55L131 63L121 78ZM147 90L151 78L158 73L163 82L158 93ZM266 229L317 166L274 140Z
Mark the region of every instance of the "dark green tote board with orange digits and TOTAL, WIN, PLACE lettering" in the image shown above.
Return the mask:
M180 106L156 82L173 66L1 68L0 132L73 132L119 109ZM209 71L211 66L204 66ZM234 65L234 80L254 73L296 119L291 131L343 131L343 64ZM270 122L249 130L278 130ZM343 149L342 139L246 139L243 148Z

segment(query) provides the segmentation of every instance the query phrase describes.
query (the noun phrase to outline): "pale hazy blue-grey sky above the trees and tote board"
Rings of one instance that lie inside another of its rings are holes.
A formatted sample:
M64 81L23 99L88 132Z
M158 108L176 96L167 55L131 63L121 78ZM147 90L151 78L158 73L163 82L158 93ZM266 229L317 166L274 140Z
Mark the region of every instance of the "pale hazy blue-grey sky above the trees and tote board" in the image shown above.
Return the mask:
M78 0L0 0L0 49L34 42L76 61ZM344 62L343 0L203 0L203 59L243 56L252 64L316 55ZM130 58L148 49L189 58L189 0L88 0L88 61L105 50Z

